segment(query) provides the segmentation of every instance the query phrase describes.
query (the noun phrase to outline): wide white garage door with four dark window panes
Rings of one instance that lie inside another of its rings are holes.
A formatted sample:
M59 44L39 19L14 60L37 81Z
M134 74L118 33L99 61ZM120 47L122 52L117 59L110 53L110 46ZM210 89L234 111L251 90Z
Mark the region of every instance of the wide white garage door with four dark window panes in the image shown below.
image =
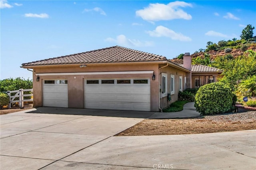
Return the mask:
M150 79L86 79L85 108L150 111Z

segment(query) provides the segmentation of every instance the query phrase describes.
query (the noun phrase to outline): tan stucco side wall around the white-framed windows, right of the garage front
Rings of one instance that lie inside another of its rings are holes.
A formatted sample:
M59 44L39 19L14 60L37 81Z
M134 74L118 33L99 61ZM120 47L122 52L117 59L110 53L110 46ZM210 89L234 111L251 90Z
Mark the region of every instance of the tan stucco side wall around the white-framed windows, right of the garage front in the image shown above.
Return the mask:
M160 67L162 67L163 65L160 65ZM162 99L160 99L160 107L161 109L164 109L166 107L168 107L168 105L170 105L171 103L173 103L174 101L178 100L178 93L179 93L179 76L182 76L182 89L184 90L184 77L186 76L186 72L182 71L180 69L168 66L168 67L164 67L162 69L160 69L160 73L167 73L167 92L171 93L171 74L174 75L174 94L171 95L171 101L167 101L167 97L162 97ZM160 77L160 82L162 81L161 77Z

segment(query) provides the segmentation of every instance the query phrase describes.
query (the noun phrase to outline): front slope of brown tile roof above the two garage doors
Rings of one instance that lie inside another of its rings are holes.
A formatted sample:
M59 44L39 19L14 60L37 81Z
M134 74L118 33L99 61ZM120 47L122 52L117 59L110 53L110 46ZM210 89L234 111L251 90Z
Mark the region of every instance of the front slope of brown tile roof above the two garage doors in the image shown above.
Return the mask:
M83 53L23 63L22 67L35 65L120 63L136 61L167 61L167 59L162 55L155 55L125 47L113 46Z

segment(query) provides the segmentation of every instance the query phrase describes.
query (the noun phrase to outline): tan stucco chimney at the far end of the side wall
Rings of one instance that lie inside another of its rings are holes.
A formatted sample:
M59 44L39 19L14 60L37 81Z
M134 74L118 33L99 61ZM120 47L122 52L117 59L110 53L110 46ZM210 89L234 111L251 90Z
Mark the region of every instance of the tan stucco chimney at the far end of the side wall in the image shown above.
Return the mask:
M185 53L183 56L183 67L189 69L190 72L186 73L186 85L185 88L192 88L192 73L191 73L192 57L190 53Z

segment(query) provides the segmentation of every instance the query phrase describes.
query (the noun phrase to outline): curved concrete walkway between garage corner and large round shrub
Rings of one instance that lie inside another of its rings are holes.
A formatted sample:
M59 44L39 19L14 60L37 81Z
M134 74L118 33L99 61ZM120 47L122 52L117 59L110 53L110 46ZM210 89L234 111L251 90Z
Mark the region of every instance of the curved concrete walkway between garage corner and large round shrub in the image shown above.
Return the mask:
M183 106L183 110L179 112L156 112L150 117L148 117L148 119L187 118L200 116L200 113L196 111L194 104L195 102L186 103Z

